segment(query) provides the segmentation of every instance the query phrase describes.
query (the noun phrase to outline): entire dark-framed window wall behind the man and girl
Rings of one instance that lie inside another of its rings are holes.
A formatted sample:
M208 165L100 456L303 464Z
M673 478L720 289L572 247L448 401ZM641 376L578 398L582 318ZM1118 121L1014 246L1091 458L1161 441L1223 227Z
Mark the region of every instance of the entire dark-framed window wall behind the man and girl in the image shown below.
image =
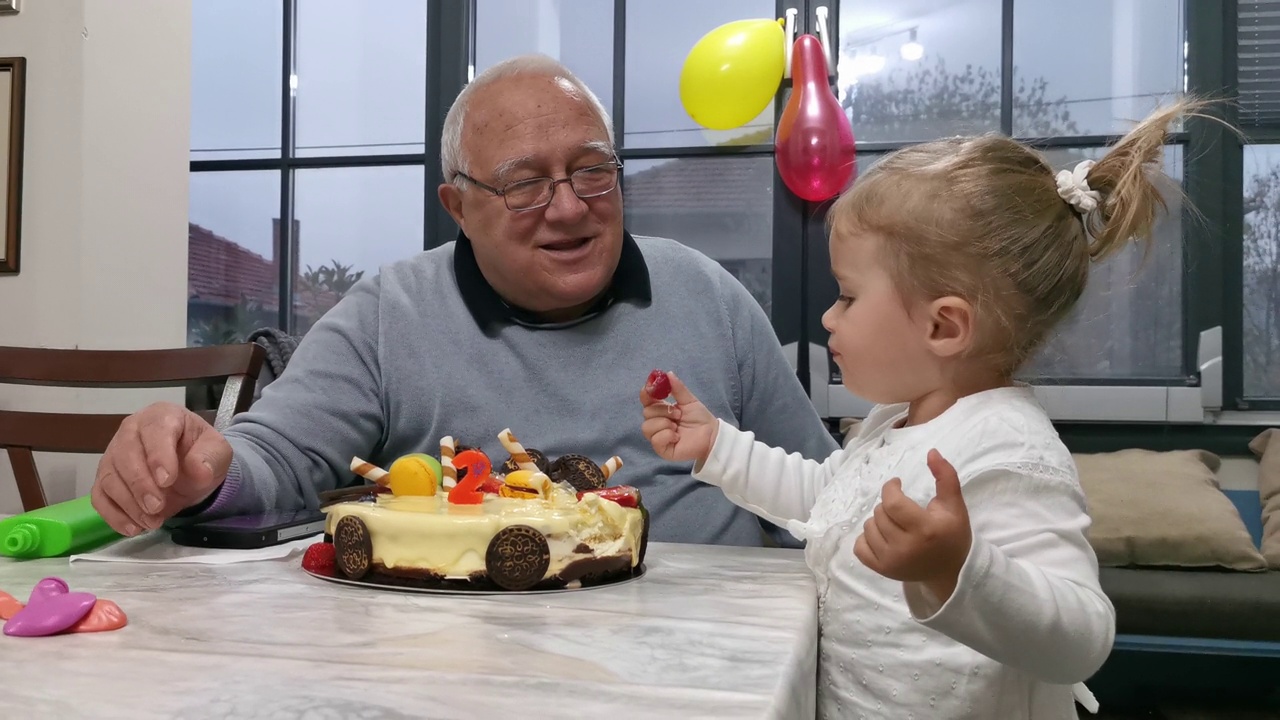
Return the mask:
M719 261L819 410L855 413L820 327L828 204L800 201L774 168L790 83L731 131L699 127L678 95L708 31L794 10L817 33L820 8L859 172L986 132L1071 168L1184 92L1238 96L1221 113L1243 140L1176 128L1151 252L1094 266L1025 377L1060 420L1222 421L1204 382L1226 411L1280 409L1280 0L196 0L189 341L306 332L380 265L451 241L444 109L474 73L544 53L612 113L627 228Z

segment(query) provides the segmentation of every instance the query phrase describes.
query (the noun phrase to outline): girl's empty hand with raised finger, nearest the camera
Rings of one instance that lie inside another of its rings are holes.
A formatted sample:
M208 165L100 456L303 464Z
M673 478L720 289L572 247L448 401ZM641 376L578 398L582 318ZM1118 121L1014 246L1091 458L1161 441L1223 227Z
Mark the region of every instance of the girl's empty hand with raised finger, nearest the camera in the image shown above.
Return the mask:
M920 507L902 493L902 480L884 483L881 503L863 525L854 555L886 578L924 584L938 602L946 602L955 592L973 534L955 468L937 450L929 451L928 461L937 482L933 500Z

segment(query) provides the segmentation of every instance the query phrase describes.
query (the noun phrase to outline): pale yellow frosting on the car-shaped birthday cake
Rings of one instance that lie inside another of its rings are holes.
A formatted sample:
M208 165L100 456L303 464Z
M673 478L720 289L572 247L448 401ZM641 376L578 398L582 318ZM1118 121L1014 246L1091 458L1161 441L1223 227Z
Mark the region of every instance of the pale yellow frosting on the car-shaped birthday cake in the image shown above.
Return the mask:
M430 570L445 578L467 578L485 570L485 552L498 530L529 525L547 536L548 575L575 560L630 555L640 559L644 518L594 493L577 500L564 486L552 486L549 497L526 500L485 493L479 505L453 505L448 493L435 496L380 495L376 502L339 502L328 509L326 529L353 515L364 520L372 541L372 560L389 569ZM579 552L585 544L589 552Z

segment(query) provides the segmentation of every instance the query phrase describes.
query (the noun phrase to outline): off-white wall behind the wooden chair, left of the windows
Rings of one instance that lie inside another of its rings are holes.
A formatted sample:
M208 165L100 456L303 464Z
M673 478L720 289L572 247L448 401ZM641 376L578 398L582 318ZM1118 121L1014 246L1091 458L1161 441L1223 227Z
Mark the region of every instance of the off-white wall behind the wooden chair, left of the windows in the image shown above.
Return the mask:
M189 0L44 0L0 17L27 58L22 273L0 277L0 345L186 343ZM119 413L173 391L0 386L0 407ZM96 457L37 456L51 502ZM20 510L0 459L0 512Z

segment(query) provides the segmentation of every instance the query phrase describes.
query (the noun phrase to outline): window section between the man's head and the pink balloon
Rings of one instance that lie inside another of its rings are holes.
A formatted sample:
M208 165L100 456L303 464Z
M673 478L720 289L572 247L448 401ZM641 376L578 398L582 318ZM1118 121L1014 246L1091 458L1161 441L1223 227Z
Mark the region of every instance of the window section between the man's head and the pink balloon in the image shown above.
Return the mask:
M717 26L773 13L774 4L767 0L704 0L696 14L682 0L627 3L622 65L627 227L705 252L771 313L773 109L731 131L701 128L680 102L685 53L671 47L692 47ZM686 20L671 23L673 17ZM655 37L669 45L653 42Z

